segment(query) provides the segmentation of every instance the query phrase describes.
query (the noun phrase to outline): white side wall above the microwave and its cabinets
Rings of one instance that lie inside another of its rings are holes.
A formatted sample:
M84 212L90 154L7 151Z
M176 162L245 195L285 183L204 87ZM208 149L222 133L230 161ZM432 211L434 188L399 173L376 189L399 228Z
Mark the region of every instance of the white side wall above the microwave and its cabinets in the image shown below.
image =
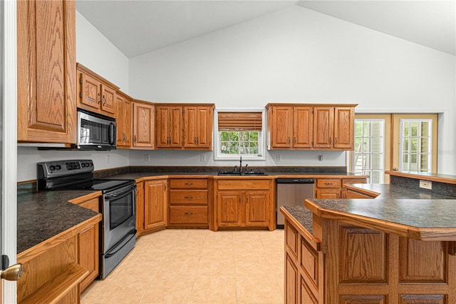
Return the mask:
M128 94L128 58L76 11L76 62Z

